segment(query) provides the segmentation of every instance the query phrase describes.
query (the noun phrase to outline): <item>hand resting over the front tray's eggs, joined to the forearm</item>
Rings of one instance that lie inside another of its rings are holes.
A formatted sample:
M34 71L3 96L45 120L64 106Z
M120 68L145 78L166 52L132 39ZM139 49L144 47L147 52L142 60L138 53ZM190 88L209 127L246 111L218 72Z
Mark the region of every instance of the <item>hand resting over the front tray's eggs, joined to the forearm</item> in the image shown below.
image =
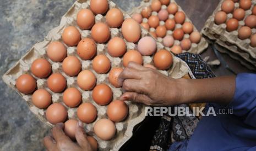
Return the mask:
M181 95L175 79L166 77L156 69L134 62L129 62L119 74L118 85L126 91L120 100L135 101L150 106L178 104Z

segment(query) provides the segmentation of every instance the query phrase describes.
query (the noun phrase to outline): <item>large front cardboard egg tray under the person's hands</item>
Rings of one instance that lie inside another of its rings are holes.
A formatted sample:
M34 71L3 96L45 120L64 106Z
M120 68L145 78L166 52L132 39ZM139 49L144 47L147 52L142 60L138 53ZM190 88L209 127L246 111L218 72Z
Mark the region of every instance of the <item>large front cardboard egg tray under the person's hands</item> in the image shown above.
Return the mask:
M30 111L32 111L43 123L47 124L48 126L53 126L51 123L49 123L46 120L45 112L46 109L39 109L34 106L31 102L31 94L30 95L24 95L21 94L17 88L15 88L15 81L21 74L31 74L30 66L31 63L38 59L38 58L45 58L48 60L52 65L52 73L61 73L66 79L67 79L67 88L74 87L77 88L81 94L82 94L82 102L91 102L94 104L94 106L97 108L97 119L90 124L85 124L84 128L85 131L90 135L94 136L94 138L98 141L99 144L99 150L118 150L126 141L129 140L130 137L132 137L132 131L133 127L140 123L145 118L145 105L143 104L137 104L133 102L126 101L128 107L129 107L129 114L126 120L115 123L116 125L116 135L112 138L112 140L109 141L103 141L99 137L95 135L93 132L94 124L97 120L101 118L107 118L106 109L107 106L100 106L97 103L95 103L92 100L91 91L83 91L79 88L78 84L76 83L77 77L69 77L67 74L65 74L62 71L62 63L61 62L52 62L46 55L46 49L48 44L50 44L53 41L59 41L62 42L61 34L65 27L67 26L75 26L78 28L79 32L81 33L81 38L89 37L90 38L90 30L80 30L80 28L77 26L76 23L76 16L80 9L89 8L90 1L88 0L79 0L76 1L72 7L67 11L66 14L62 16L61 22L58 27L53 28L45 37L45 40L43 42L35 44L29 51L26 53L21 59L12 67L10 68L4 75L3 80L5 83L7 83L11 88L13 88L15 91L18 92L19 95L21 95L26 103L29 106ZM108 1L109 8L118 8L115 3L112 1ZM121 10L121 9L120 9ZM122 11L122 10L121 10ZM130 16L123 12L124 19L130 18ZM95 16L95 22L105 22L105 16L103 15L96 15ZM121 33L121 27L119 28L110 28L111 31L111 38L113 37L122 37ZM141 27L141 37L150 36L149 32L146 31L144 28ZM125 40L125 39L124 39ZM128 43L126 40L127 50L130 49L137 49L137 43ZM106 83L110 86L110 88L113 91L113 100L118 99L122 95L122 89L121 88L114 88L109 82L108 82L108 73L107 74L97 74L92 69L92 61L91 60L81 60L80 57L76 53L76 47L68 47L65 44L67 48L67 55L74 55L77 56L78 59L81 62L81 68L89 69L92 71L97 78L97 84L100 83ZM164 46L157 42L157 50L163 49ZM107 53L107 44L97 44L97 54L105 54L110 60L111 60L111 67L122 67L123 68L123 62L121 58L114 58L108 55ZM167 71L160 71L161 73L168 75L172 78L181 78L183 75L187 73L192 73L190 69L188 68L188 65L179 59L178 57L173 57L173 65L170 69ZM145 63L151 63L152 64L152 56L143 56L144 64ZM47 79L40 79L32 75L36 79L37 83L37 89L46 89L50 92L52 95L52 102L59 102L62 103L68 111L68 119L78 119L77 117L77 107L70 108L66 106L62 101L62 93L54 93L50 89L47 88Z

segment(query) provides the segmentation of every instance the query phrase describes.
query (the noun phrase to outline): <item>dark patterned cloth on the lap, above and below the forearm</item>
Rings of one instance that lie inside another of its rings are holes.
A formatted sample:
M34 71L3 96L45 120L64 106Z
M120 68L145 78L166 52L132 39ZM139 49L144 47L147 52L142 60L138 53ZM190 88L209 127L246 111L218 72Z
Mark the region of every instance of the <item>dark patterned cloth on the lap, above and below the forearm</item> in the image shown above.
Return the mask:
M215 77L200 55L183 53L176 56L187 63L195 78ZM179 107L188 107L188 105L181 104ZM198 121L199 119L194 116L170 117L168 114L164 115L161 118L159 129L156 130L152 139L150 150L167 150L173 142L190 138Z

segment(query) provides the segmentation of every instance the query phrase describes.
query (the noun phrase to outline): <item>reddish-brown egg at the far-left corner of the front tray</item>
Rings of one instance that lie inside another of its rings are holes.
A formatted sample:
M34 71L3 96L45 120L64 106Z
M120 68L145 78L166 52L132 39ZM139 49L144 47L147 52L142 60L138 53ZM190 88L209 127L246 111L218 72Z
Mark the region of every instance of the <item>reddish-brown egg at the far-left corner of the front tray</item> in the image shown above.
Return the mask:
M22 74L16 80L16 88L23 94L31 94L36 89L36 80L30 74Z

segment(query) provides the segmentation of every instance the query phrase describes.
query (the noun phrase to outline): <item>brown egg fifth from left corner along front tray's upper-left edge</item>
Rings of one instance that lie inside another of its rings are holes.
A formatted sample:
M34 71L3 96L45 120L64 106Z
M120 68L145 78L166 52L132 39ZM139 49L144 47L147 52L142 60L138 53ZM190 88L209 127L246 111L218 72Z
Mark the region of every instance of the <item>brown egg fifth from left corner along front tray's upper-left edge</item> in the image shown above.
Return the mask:
M94 13L90 9L81 9L77 14L77 25L81 30L89 30L95 22Z

